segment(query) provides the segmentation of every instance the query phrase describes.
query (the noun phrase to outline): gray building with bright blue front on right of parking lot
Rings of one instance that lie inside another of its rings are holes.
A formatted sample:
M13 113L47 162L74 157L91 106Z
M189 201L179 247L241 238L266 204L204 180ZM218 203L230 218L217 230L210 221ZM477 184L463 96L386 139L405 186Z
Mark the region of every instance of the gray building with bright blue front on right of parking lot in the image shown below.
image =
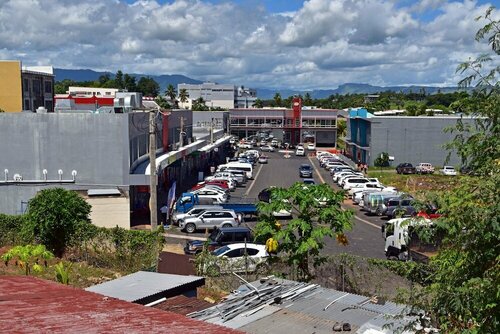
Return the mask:
M347 119L347 155L353 161L373 166L382 152L394 160L392 166L402 162L414 165L428 162L434 166L459 166L460 159L453 152L446 162L449 151L444 145L455 134L445 132L461 119L473 124L474 119L456 115L446 116L373 116L366 109L353 109Z

